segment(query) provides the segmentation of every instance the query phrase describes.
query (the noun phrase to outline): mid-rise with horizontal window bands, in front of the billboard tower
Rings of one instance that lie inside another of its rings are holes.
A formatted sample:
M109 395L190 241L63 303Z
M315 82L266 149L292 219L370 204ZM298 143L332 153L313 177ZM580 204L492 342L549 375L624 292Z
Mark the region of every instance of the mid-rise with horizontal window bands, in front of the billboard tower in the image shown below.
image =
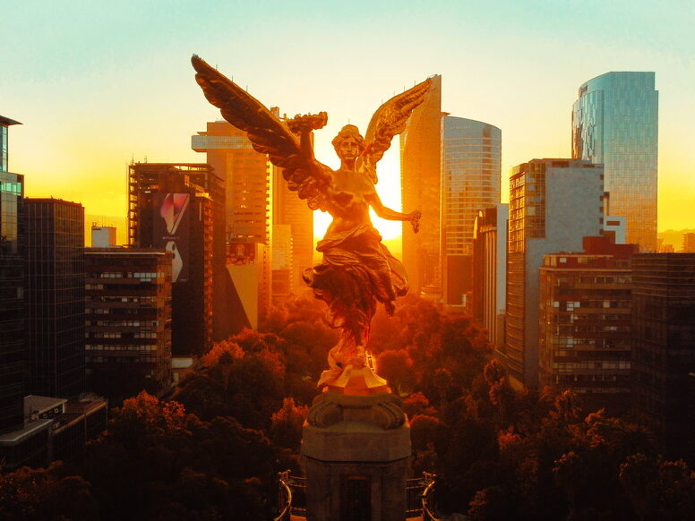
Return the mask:
M117 405L171 385L170 252L87 248L87 389Z

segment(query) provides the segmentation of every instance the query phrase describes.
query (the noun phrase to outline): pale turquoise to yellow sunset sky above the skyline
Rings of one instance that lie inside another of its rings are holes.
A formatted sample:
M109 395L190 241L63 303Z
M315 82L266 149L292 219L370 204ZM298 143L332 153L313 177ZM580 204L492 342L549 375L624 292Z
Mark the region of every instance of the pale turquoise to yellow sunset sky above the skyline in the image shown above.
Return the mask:
M327 111L315 149L330 167L342 125L364 131L383 101L442 74L442 110L502 129L502 201L511 167L571 156L579 85L653 71L658 228L695 228L691 0L0 0L0 13L0 115L22 123L10 170L28 196L82 202L99 224L125 216L131 161L204 162L191 136L220 116L193 80L197 54L281 113ZM398 148L377 185L394 209Z

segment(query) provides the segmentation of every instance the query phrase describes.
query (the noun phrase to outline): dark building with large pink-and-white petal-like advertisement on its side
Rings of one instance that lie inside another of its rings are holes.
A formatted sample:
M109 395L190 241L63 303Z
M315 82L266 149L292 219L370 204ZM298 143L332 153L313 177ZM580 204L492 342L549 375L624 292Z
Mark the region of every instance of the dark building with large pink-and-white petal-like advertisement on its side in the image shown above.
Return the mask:
M212 346L219 179L205 164L134 163L129 175L131 246L164 248L174 255L172 353L204 354Z

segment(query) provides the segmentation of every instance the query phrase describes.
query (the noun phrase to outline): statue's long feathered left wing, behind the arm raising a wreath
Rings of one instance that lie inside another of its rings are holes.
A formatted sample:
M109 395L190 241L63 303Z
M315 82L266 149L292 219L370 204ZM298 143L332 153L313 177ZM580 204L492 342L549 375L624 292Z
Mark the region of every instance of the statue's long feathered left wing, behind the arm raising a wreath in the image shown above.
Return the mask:
M193 55L191 63L197 72L195 81L205 98L219 107L230 124L246 132L253 149L267 154L273 165L283 169L288 188L297 192L300 199L305 199L309 208L325 210L329 178L323 172L328 167L307 160L300 151L296 135L258 99L199 56Z

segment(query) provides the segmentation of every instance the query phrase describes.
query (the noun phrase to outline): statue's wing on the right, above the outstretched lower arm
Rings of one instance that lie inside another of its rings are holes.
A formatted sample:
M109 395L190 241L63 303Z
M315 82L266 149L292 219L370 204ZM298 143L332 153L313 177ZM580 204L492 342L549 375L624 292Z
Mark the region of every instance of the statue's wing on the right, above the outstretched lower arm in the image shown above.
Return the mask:
M432 80L427 79L412 89L390 98L372 116L365 135L366 146L360 158L360 167L373 177L373 183L377 181L374 169L376 162L389 149L393 136L406 129L408 117L418 105L425 101L431 84Z

